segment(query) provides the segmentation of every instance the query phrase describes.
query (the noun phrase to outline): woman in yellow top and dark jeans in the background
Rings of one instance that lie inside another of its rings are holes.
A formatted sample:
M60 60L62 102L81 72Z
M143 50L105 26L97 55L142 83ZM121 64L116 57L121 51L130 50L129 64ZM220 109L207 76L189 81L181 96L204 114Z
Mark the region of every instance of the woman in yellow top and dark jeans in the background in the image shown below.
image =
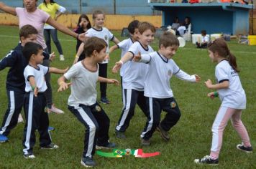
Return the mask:
M38 6L38 8L41 9L42 11L45 11L47 14L50 14L51 18L55 20L57 20L58 17L62 15L66 10L63 6L60 6L59 4L55 3L55 1L53 0L44 0L43 3ZM52 37L52 40L55 43L55 46L58 49L58 52L60 54L60 61L64 61L65 58L63 55L63 49L58 40L57 29L50 26L49 24L45 24L44 36L45 36L45 42L47 45L48 52L51 53L52 51L52 48L50 46L50 37Z

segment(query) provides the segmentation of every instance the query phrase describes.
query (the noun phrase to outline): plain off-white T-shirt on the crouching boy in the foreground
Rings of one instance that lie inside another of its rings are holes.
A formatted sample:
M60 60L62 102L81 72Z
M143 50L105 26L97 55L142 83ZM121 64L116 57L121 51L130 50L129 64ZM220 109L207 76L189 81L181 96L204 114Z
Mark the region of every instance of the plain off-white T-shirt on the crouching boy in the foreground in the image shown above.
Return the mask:
M99 65L97 67L95 72L91 72L84 67L82 62L77 62L64 74L65 79L70 80L72 83L68 105L93 105L96 103L96 83L99 77Z

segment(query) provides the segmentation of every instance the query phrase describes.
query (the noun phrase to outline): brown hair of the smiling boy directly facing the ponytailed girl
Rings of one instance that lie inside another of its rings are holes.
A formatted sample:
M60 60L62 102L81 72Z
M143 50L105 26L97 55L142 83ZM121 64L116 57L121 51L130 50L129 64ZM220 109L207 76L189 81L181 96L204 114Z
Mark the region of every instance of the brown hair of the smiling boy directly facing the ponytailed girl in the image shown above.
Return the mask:
M159 48L161 47L161 44L163 44L164 47L170 47L170 46L179 46L180 42L178 42L177 37L175 37L174 34L171 32L164 32L162 36L159 39Z

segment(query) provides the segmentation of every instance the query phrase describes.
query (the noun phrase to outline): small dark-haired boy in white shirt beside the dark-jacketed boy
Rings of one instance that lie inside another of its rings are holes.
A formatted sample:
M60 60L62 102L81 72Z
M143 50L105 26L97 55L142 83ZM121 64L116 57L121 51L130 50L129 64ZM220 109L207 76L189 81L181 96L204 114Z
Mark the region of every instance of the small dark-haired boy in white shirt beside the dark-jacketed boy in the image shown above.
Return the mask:
M25 95L24 112L26 125L24 127L23 153L24 158L35 158L33 147L35 145L35 130L40 134L40 148L56 149L58 145L52 143L48 132L49 118L45 112L46 99L44 92L47 90L45 74L53 72L63 74L67 69L57 69L55 67L42 66L43 49L40 44L27 42L23 49L23 56L29 64L24 69Z

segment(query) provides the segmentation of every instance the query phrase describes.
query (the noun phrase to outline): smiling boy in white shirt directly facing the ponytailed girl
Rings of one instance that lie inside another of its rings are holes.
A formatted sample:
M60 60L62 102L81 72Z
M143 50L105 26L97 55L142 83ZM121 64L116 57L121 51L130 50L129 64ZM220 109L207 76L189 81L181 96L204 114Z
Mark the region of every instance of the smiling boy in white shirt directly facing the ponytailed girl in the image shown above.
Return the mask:
M159 39L158 52L142 54L134 57L134 61L149 65L145 75L144 95L147 98L148 118L145 129L140 137L142 145L150 145L150 138L155 129L160 131L164 140L169 140L168 131L180 119L180 109L173 91L170 89L170 78L175 75L188 82L199 82L198 75L189 75L183 72L172 57L179 46L178 39L170 32L165 32ZM167 112L160 122L161 111Z

